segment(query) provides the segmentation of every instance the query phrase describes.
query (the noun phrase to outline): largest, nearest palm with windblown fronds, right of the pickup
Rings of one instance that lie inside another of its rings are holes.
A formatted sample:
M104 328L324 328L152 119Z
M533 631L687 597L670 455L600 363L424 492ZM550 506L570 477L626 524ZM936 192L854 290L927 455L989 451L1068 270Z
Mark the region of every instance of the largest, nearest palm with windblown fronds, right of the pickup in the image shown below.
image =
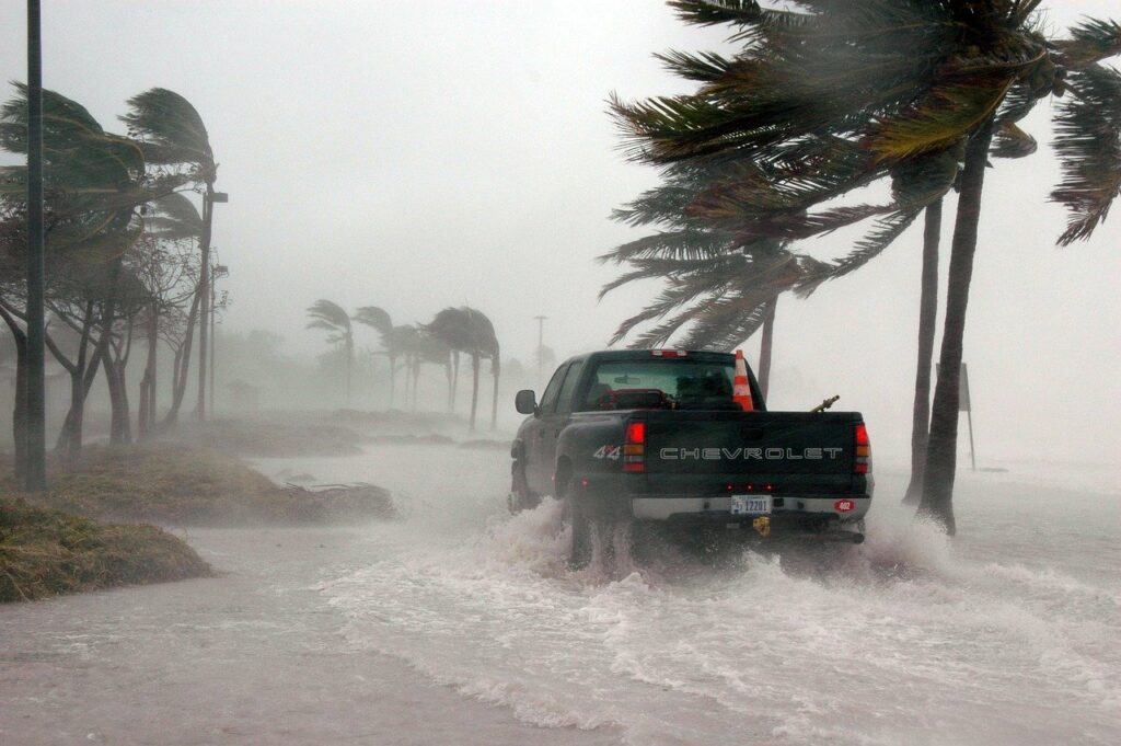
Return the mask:
M731 58L667 55L667 64L701 82L700 91L638 104L615 100L613 109L637 159L667 164L722 156L749 164L745 178L730 179L715 199L698 201L710 214L719 217L729 203L740 206L736 191L744 184L748 196L758 192L760 178L781 184L791 149L839 138L863 151L864 162L847 172L813 169L812 178L786 190L794 204L780 202L778 214L762 225L772 237L795 239L823 224L882 214L876 232L888 236L905 229L915 211L861 206L814 217L806 213L807 203L966 144L920 505L952 533L957 378L990 145L995 138L998 150L1034 148L1016 122L1040 98L1063 92L1067 70L1117 54L1121 29L1091 21L1076 27L1072 39L1053 42L1032 26L1038 0L798 3L804 11L769 10L750 0L671 4L689 22L734 25L742 52ZM836 270L859 265L860 252L854 255L835 263Z

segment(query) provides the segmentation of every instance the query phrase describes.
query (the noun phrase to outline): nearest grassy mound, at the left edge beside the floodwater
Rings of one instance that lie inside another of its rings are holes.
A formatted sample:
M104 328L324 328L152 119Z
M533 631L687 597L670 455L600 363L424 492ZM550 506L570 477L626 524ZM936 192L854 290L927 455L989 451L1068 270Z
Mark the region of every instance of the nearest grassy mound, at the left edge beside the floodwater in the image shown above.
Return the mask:
M161 528L101 524L0 498L0 601L213 574Z

